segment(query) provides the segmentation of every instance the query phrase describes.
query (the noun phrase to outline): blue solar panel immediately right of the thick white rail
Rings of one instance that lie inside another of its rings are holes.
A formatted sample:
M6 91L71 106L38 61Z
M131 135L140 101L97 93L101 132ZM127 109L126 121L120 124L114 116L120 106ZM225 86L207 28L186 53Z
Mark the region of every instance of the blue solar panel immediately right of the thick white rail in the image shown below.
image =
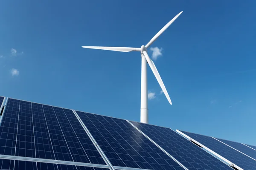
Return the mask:
M256 161L209 136L181 131L244 170L255 170Z

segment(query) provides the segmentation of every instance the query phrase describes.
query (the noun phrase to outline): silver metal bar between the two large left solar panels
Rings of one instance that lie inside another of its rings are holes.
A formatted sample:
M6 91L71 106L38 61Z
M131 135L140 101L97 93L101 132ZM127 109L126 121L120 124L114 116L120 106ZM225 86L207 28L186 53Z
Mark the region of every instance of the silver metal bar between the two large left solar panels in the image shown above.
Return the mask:
M102 159L105 161L105 163L109 166L109 168L111 170L115 170L115 168L113 167L113 165L111 164L111 162L108 160L107 156L105 155L105 153L102 151L102 149L99 147L99 144L96 142L96 140L93 138L92 134L90 133L90 131L87 129L87 127L84 125L84 122L80 119L80 117L78 116L78 114L76 113L75 110L72 110L73 113L76 115L76 118L79 120L81 126L84 128L85 132L87 133L87 135L89 136L89 138L91 139L91 141L93 142L94 146L96 147L96 149L98 150L99 154L102 156Z

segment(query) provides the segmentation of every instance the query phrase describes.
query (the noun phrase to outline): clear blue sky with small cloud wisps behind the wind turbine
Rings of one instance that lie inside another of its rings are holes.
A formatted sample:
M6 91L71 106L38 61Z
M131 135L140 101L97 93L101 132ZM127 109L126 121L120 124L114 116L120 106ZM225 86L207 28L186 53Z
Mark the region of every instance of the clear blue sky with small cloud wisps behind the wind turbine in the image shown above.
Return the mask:
M140 47L151 47L172 99L148 67L149 123L256 145L256 2L0 2L0 95L140 121ZM157 49L156 48L156 49ZM148 50L149 56L153 52Z

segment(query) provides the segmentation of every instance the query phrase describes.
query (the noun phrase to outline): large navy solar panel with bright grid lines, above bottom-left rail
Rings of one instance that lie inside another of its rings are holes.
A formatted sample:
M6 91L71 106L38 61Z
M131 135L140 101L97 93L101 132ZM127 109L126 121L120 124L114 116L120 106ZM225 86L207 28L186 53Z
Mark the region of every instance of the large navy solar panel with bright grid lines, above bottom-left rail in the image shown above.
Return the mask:
M72 110L8 99L0 154L106 164Z

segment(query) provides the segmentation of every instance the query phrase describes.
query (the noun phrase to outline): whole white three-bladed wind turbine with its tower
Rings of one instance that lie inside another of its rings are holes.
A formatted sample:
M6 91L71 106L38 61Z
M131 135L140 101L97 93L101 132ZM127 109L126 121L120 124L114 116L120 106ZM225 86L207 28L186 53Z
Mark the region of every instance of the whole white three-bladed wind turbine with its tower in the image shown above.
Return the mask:
M154 62L148 57L147 48L155 41L157 38L165 31L176 19L180 16L181 11L177 14L172 20L169 21L148 43L147 45L142 45L140 48L131 48L131 47L99 47L99 46L82 46L83 48L93 48L100 50L110 50L110 51L121 51L121 52L130 52L130 51L140 51L141 54L141 96L140 96L140 122L148 123L148 84L147 84L147 63L151 70L154 73L160 87L163 90L167 100L172 105L172 101L169 97L169 94L166 91L166 88L163 84L163 81L157 71Z

